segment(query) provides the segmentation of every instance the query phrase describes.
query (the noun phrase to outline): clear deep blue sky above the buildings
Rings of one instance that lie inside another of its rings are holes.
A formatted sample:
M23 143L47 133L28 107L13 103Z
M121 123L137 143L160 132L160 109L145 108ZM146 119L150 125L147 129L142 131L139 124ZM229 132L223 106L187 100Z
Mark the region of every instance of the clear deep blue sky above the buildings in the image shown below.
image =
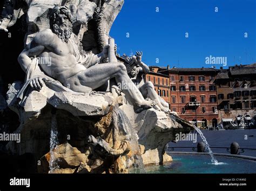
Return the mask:
M118 53L143 51L147 65L211 67L205 64L210 55L226 57L226 67L252 64L256 63L255 2L125 0L110 35L116 39Z

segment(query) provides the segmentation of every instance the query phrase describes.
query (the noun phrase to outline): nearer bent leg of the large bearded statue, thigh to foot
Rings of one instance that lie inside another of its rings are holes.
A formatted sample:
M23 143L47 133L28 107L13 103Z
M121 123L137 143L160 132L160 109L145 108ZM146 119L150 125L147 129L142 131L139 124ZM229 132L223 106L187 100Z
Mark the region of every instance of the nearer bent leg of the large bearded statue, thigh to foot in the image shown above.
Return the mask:
M142 93L127 74L126 67L122 63L106 63L97 64L88 69L79 72L76 76L69 79L71 86L78 89L87 86L95 90L102 86L107 80L115 78L117 83L120 83L121 89L126 94L130 94L133 103L138 107L152 108L155 103L147 101L143 98Z

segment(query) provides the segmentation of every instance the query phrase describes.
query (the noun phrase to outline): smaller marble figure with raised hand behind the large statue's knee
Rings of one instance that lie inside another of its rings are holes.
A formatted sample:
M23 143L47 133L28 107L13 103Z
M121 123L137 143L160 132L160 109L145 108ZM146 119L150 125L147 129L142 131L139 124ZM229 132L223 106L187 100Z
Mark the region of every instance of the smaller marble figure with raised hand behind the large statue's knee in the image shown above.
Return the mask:
M133 83L137 85L139 91L142 93L145 99L155 100L157 108L160 111L169 113L169 104L161 98L157 92L154 90L154 85L151 81L144 82L143 76L150 72L149 66L142 62L143 52L136 52L136 56L127 57L124 56L126 62L126 70L132 79Z

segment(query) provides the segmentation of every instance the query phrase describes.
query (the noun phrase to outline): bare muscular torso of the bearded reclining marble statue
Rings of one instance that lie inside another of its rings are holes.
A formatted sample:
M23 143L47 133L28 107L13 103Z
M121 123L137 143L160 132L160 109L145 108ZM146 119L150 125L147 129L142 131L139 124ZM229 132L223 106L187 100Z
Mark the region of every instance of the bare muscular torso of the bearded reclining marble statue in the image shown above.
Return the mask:
M39 63L43 71L64 83L66 79L74 76L80 71L86 70L82 64L78 64L72 43L62 42L55 36L53 42L45 47L44 51L38 55L39 58L50 58L50 63Z

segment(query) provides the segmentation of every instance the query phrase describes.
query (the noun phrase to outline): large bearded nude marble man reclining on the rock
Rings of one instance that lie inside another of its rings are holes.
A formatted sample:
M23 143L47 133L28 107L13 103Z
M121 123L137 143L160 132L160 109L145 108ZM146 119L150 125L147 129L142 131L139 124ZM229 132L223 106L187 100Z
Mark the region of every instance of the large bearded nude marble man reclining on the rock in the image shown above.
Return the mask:
M132 84L126 67L119 62L103 63L108 56L106 46L102 53L82 55L71 42L72 15L66 6L55 6L50 16L50 29L39 32L32 42L26 46L18 57L18 62L26 72L31 65L31 57L51 58L50 64L41 64L41 70L53 79L58 80L65 87L75 92L89 92L104 85L114 78L117 83ZM44 86L44 78L35 77L30 86L40 91ZM147 101L134 85L129 90L134 105L140 108L152 108L156 103Z

